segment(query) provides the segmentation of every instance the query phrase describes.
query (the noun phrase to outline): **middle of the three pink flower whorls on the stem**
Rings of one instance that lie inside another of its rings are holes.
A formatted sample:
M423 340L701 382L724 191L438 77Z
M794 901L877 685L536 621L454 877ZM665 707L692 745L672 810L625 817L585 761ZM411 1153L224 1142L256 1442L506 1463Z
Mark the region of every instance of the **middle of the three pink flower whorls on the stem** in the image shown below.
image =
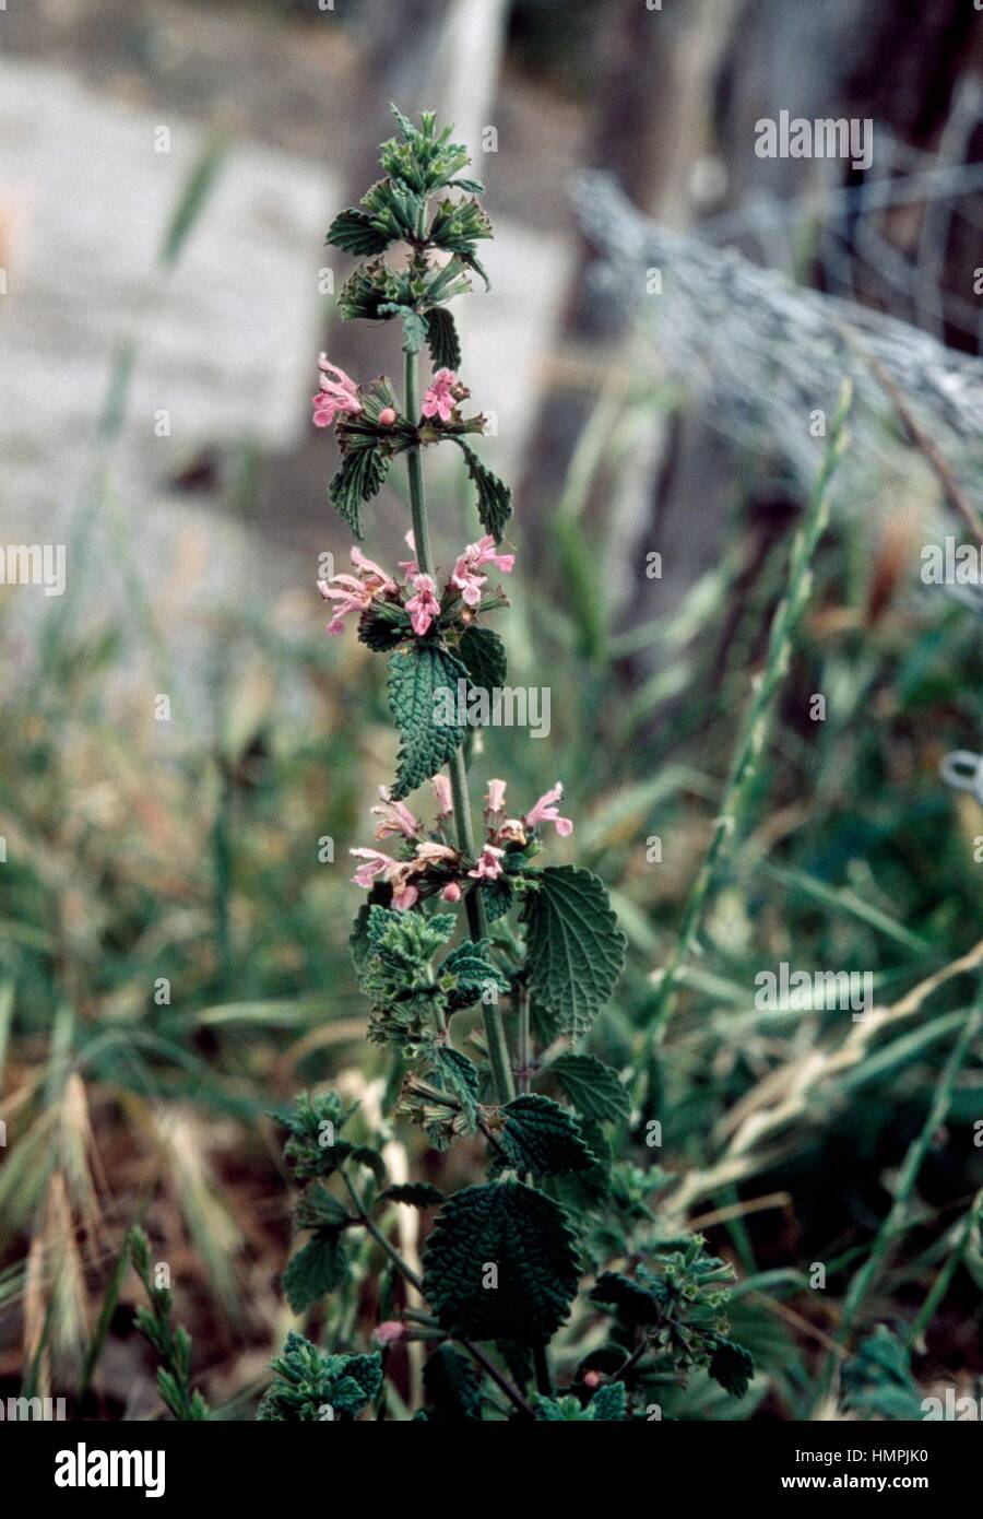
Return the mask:
M410 553L416 553L413 535L406 535ZM360 548L352 548L351 561L354 574L334 574L330 580L319 580L318 589L325 602L331 602L330 633L345 630L345 618L349 612L359 617L368 611L374 602L389 602L392 606L403 606L409 615L410 627L418 638L430 632L430 627L453 603L463 602L474 611L482 602L488 576L482 574L488 565L494 565L501 574L510 574L515 554L500 554L495 539L491 535L480 538L476 544L468 544L459 554L442 595L438 595L436 580L430 574L421 574L416 559L406 559L400 564L403 585L375 564L366 559Z

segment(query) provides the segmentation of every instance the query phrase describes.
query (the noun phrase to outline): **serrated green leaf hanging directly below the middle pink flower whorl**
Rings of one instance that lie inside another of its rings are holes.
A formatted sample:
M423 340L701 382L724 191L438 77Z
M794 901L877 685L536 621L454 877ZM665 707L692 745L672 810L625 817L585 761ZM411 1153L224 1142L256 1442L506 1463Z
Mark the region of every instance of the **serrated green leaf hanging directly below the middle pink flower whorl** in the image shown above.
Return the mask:
M398 649L389 661L389 705L400 731L401 746L394 801L409 796L456 755L463 729L441 720L441 694L447 693L456 712L457 681L468 674L459 659L438 644L416 643Z

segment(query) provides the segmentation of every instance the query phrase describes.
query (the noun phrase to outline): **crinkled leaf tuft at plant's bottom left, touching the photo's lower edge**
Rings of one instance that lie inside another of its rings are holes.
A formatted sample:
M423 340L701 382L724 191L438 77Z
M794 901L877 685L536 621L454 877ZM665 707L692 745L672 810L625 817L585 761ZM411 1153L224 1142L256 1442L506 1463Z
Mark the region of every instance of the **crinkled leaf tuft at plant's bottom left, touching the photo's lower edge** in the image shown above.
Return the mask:
M349 1422L383 1385L378 1353L328 1355L293 1332L272 1370L273 1381L257 1411L257 1419L267 1423Z

